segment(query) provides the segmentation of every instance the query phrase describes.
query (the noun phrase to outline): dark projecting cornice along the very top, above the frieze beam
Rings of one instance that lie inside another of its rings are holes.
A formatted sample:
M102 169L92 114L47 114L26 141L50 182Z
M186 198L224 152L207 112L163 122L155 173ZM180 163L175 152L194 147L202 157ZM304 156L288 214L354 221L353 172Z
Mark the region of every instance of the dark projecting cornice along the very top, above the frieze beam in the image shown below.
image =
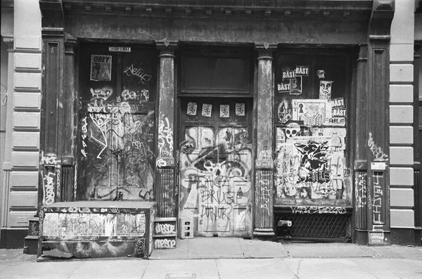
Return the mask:
M40 0L44 2L53 0ZM59 0L53 1L57 2ZM153 0L100 1L62 0L65 13L90 13L134 16L321 20L362 20L371 13L373 0ZM249 17L249 18L248 18Z

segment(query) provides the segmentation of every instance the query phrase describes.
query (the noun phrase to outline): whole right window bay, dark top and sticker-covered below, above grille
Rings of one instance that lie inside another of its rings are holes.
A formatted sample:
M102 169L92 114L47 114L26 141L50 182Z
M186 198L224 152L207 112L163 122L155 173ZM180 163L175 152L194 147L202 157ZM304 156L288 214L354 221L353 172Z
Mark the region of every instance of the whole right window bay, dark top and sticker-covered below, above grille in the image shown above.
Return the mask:
M277 56L277 204L351 205L347 67L340 54Z

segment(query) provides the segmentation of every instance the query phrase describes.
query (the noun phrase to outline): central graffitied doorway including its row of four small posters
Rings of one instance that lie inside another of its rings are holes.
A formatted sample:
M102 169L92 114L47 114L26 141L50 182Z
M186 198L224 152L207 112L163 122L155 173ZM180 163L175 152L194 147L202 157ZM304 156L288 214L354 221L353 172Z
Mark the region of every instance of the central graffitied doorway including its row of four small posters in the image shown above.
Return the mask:
M252 102L181 100L179 217L197 235L249 237L252 231Z

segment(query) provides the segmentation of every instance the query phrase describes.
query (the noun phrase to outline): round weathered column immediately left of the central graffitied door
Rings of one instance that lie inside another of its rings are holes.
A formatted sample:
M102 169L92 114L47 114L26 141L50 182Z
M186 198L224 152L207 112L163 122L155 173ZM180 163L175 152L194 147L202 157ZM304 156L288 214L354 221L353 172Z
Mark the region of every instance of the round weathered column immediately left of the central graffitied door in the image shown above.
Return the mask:
M157 217L176 216L176 187L174 186L174 50L176 41L157 41L160 50L158 85L158 140L155 148Z

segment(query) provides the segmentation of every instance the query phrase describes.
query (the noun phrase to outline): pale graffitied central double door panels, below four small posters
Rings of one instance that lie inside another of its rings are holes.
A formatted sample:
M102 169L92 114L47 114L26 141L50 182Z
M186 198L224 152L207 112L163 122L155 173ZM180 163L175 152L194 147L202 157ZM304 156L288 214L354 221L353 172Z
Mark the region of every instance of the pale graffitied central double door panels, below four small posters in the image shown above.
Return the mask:
M180 147L179 216L198 233L247 235L252 146L246 127L186 127Z

